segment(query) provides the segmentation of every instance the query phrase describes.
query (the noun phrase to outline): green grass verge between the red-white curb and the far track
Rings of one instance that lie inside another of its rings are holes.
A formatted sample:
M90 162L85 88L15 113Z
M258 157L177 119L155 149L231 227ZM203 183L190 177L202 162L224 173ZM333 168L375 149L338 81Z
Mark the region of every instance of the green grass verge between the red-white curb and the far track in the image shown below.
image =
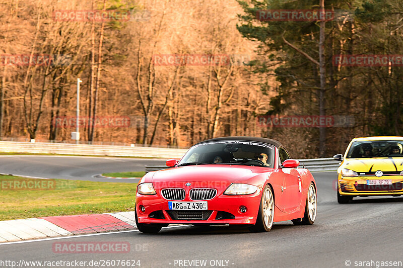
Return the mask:
M136 184L0 175L0 220L133 211Z

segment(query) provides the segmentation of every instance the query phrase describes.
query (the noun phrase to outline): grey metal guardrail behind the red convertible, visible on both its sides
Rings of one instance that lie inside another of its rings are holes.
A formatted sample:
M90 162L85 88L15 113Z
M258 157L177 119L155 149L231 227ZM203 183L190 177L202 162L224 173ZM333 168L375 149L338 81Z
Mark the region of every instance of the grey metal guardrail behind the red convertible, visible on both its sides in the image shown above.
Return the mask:
M317 159L298 159L299 167L305 167L311 172L315 171L334 171L340 166L340 162L333 158L317 158ZM169 168L165 165L146 165L146 172L157 171Z

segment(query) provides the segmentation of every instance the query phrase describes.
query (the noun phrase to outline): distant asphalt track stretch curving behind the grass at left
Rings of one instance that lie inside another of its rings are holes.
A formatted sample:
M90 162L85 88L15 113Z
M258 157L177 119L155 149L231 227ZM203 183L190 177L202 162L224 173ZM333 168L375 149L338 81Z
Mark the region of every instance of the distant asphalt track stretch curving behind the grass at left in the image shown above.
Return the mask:
M94 182L127 182L139 180L115 180L94 175L106 172L144 171L146 164L163 165L161 159L135 159L123 157L80 157L47 155L0 156L0 173L44 178Z

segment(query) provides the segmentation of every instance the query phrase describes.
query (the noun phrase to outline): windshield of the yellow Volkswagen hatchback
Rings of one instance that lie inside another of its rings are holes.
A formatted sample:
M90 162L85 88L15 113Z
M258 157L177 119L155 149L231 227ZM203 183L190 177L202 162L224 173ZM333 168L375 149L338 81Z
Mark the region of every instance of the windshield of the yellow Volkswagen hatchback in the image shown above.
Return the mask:
M347 158L403 157L402 140L355 141Z

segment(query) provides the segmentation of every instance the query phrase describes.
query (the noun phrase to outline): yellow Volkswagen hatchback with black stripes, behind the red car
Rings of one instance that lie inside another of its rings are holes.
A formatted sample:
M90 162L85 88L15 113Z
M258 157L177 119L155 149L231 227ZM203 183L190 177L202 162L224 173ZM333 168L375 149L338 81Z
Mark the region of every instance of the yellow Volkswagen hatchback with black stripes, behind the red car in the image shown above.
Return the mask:
M403 195L403 137L354 138L338 168L337 201Z

